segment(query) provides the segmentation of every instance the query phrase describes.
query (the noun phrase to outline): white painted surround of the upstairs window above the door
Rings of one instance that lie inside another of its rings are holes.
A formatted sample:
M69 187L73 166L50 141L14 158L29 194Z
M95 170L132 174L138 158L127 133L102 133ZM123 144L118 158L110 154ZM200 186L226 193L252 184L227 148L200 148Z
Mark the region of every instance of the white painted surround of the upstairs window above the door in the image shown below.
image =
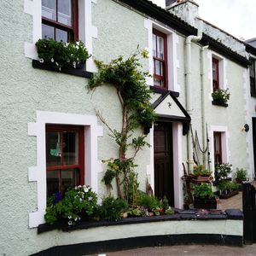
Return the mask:
M144 27L148 30L148 72L152 76L147 79L147 84L154 86L154 65L153 65L153 29L166 34L167 37L167 72L168 72L168 90L180 92L180 86L177 84L177 68L179 61L177 58L177 34L168 26L159 24L154 20L145 19Z

